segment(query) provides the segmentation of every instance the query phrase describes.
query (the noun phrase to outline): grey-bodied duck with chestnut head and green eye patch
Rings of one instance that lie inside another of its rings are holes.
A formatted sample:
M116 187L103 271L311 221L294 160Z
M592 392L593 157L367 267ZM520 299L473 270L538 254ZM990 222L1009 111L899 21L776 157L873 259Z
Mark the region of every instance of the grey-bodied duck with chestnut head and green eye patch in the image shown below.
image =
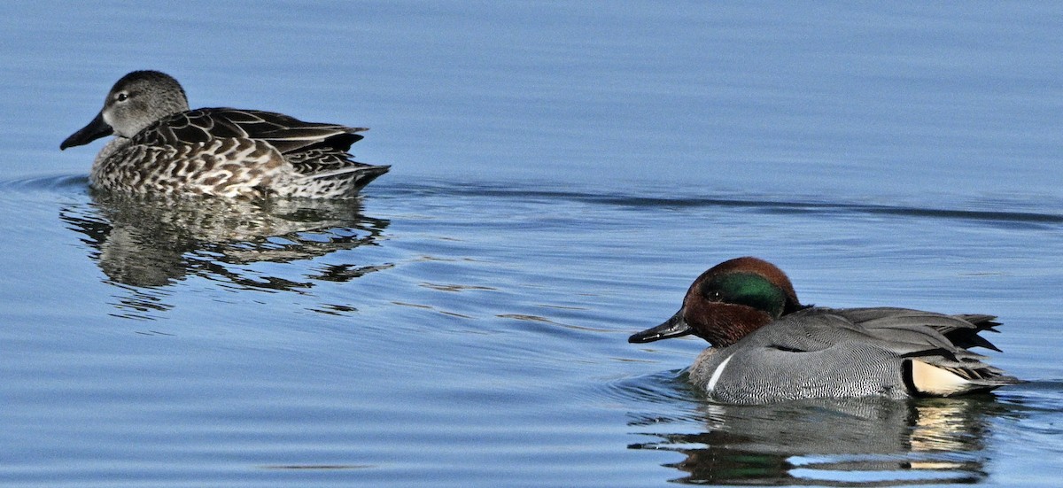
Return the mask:
M1019 383L985 356L991 315L945 315L898 307L803 305L789 276L745 256L694 280L682 306L631 343L694 335L711 347L687 369L709 400L767 404L793 400L954 397Z

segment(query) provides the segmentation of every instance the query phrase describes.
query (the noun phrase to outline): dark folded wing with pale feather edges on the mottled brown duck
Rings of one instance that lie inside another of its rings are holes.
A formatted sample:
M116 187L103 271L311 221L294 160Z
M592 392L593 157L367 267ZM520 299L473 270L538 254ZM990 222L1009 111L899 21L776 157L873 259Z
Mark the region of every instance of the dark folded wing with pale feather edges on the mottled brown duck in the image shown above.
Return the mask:
M219 107L173 114L148 127L134 138L159 146L242 138L265 141L285 155L313 150L344 154L352 144L362 138L357 133L367 130L304 122L273 112Z

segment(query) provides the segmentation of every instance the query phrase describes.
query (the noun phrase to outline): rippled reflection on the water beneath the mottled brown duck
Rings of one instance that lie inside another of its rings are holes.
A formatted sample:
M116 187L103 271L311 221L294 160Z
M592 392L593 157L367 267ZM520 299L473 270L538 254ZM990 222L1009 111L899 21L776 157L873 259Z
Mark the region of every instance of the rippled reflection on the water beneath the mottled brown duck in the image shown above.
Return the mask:
M199 275L248 289L300 290L308 281L249 273L253 263L313 259L373 243L388 221L361 214L357 200L148 200L94 193L61 211L112 284L120 308L165 310L168 285ZM344 282L384 265L322 265L310 280Z

